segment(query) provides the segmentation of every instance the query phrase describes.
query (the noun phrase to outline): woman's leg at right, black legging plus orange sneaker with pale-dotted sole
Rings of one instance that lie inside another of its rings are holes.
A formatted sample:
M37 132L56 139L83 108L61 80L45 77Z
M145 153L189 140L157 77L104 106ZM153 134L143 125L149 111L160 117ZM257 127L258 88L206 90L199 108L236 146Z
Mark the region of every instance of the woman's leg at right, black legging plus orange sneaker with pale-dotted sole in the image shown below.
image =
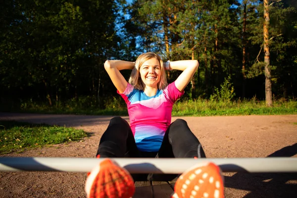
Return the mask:
M163 145L164 143L164 145ZM196 136L185 120L177 119L168 128L159 156L166 157L206 157ZM170 147L171 146L171 147ZM176 181L172 198L223 198L224 187L220 168L213 163L204 162L184 172Z

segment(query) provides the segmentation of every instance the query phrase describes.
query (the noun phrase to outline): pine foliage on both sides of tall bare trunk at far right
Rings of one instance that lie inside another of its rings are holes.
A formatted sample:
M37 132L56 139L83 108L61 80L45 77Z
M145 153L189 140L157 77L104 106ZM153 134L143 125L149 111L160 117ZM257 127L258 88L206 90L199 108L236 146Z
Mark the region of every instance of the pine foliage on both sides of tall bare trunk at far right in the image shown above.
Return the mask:
M248 24L249 41L252 47L258 45L258 49L254 48L255 54L253 59L249 60L248 78L255 78L256 76L264 76L264 53L263 53L263 35L261 26L263 24L263 5L259 3L255 9L258 11L259 16L250 17L252 23ZM254 11L253 11L254 12ZM252 13L253 13L252 12ZM293 87L288 86L289 81L292 85L296 84L292 80L292 73L296 72L296 63L292 49L296 49L296 17L297 10L290 7L285 1L271 0L269 6L269 50L270 50L270 66L271 80L273 93L278 96L287 98L291 95L294 98ZM258 24L258 26L255 26ZM248 50L251 51L252 49ZM293 58L292 58L293 57ZM289 63L290 62L290 63ZM282 90L280 92L280 90ZM289 94L290 93L290 94Z

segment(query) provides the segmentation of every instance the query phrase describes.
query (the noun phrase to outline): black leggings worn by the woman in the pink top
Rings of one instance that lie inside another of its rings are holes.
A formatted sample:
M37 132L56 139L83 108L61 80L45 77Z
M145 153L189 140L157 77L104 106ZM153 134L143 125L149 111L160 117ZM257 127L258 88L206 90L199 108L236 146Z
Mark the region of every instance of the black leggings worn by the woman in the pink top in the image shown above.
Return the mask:
M130 125L121 117L114 117L103 133L97 155L100 157L206 157L200 142L187 122L177 119L165 132L158 152L140 151L135 143ZM134 181L171 181L176 174L133 174Z

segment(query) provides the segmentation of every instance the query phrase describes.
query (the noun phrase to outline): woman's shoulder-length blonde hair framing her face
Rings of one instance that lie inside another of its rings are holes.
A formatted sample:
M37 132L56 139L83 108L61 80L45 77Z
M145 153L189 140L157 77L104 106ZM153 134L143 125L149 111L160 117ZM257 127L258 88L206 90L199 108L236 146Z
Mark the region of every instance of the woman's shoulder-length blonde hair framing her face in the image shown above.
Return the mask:
M143 81L140 77L139 69L140 67L150 58L156 58L160 63L161 68L161 76L160 81L157 86L159 90L164 90L167 87L167 78L165 75L165 68L163 66L163 61L161 57L153 52L143 53L136 59L135 67L131 72L131 76L129 78L129 83L134 86L135 89L144 90Z

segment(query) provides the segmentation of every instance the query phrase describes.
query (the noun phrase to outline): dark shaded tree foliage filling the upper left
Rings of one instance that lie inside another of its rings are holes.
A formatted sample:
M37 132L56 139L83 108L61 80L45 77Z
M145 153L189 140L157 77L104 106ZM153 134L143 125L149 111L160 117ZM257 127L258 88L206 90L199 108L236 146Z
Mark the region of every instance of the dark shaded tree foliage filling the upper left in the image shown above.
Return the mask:
M114 56L117 4L110 0L15 0L1 18L0 89L24 99L103 95ZM13 13L13 14L12 14ZM108 89L105 89L108 93ZM24 96L25 95L25 96Z

